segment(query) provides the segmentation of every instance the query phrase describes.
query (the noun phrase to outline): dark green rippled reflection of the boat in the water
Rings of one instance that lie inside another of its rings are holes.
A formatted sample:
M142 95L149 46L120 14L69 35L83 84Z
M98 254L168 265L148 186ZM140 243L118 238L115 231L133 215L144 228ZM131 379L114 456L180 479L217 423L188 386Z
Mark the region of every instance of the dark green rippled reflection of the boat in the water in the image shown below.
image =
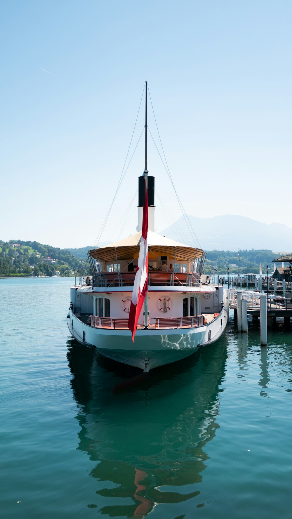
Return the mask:
M199 496L206 444L219 427L225 340L154 370L146 383L119 394L112 390L130 376L127 367L90 349L85 355L74 339L68 347L79 407L78 449L96 462L90 473L96 478L96 495L88 506L110 517L145 517L155 506ZM194 506L199 505L198 498Z

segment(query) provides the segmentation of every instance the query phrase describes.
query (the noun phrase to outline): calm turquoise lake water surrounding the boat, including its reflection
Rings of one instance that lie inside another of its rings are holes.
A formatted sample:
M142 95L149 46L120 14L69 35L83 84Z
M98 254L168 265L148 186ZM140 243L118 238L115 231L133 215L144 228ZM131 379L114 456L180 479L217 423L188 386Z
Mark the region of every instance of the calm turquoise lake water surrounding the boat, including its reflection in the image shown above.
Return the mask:
M231 320L215 345L113 394L133 372L69 336L71 283L0 280L1 516L290 519L283 323L260 348Z

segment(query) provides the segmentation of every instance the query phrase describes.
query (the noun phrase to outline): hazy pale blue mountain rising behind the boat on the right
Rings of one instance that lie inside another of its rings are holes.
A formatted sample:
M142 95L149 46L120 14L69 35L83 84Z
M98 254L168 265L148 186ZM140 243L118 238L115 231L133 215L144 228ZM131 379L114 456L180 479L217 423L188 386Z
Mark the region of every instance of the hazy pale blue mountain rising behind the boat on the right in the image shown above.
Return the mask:
M271 249L275 253L292 251L292 229L282 224L263 224L246 218L225 214L213 218L188 216L204 250L235 251L238 249ZM179 229L179 230L177 230ZM183 216L172 227L159 234L176 241L191 240L191 234Z

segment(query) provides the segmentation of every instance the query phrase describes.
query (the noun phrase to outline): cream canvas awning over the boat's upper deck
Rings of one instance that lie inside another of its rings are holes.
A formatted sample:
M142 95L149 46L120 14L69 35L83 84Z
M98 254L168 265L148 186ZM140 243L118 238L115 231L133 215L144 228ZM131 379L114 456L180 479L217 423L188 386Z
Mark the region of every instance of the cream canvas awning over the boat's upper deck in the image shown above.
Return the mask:
M92 249L89 254L96 260L102 262L116 262L116 260L130 260L138 258L141 242L141 231L133 236L129 236L124 240L112 243L107 247ZM177 262L190 261L193 258L204 256L202 249L189 247L183 243L170 240L160 234L148 231L148 260L155 260L160 256L169 256L176 258Z

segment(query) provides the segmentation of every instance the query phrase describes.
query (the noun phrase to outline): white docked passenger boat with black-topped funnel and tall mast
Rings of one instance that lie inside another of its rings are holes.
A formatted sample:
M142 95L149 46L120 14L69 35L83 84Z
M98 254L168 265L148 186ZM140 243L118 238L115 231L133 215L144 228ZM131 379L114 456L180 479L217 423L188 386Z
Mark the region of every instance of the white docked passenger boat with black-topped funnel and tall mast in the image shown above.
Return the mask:
M147 171L146 90L137 233L89 251L91 276L71 288L69 331L81 344L144 372L214 343L227 324L228 290L204 275L205 256L200 248L155 232L155 179Z

